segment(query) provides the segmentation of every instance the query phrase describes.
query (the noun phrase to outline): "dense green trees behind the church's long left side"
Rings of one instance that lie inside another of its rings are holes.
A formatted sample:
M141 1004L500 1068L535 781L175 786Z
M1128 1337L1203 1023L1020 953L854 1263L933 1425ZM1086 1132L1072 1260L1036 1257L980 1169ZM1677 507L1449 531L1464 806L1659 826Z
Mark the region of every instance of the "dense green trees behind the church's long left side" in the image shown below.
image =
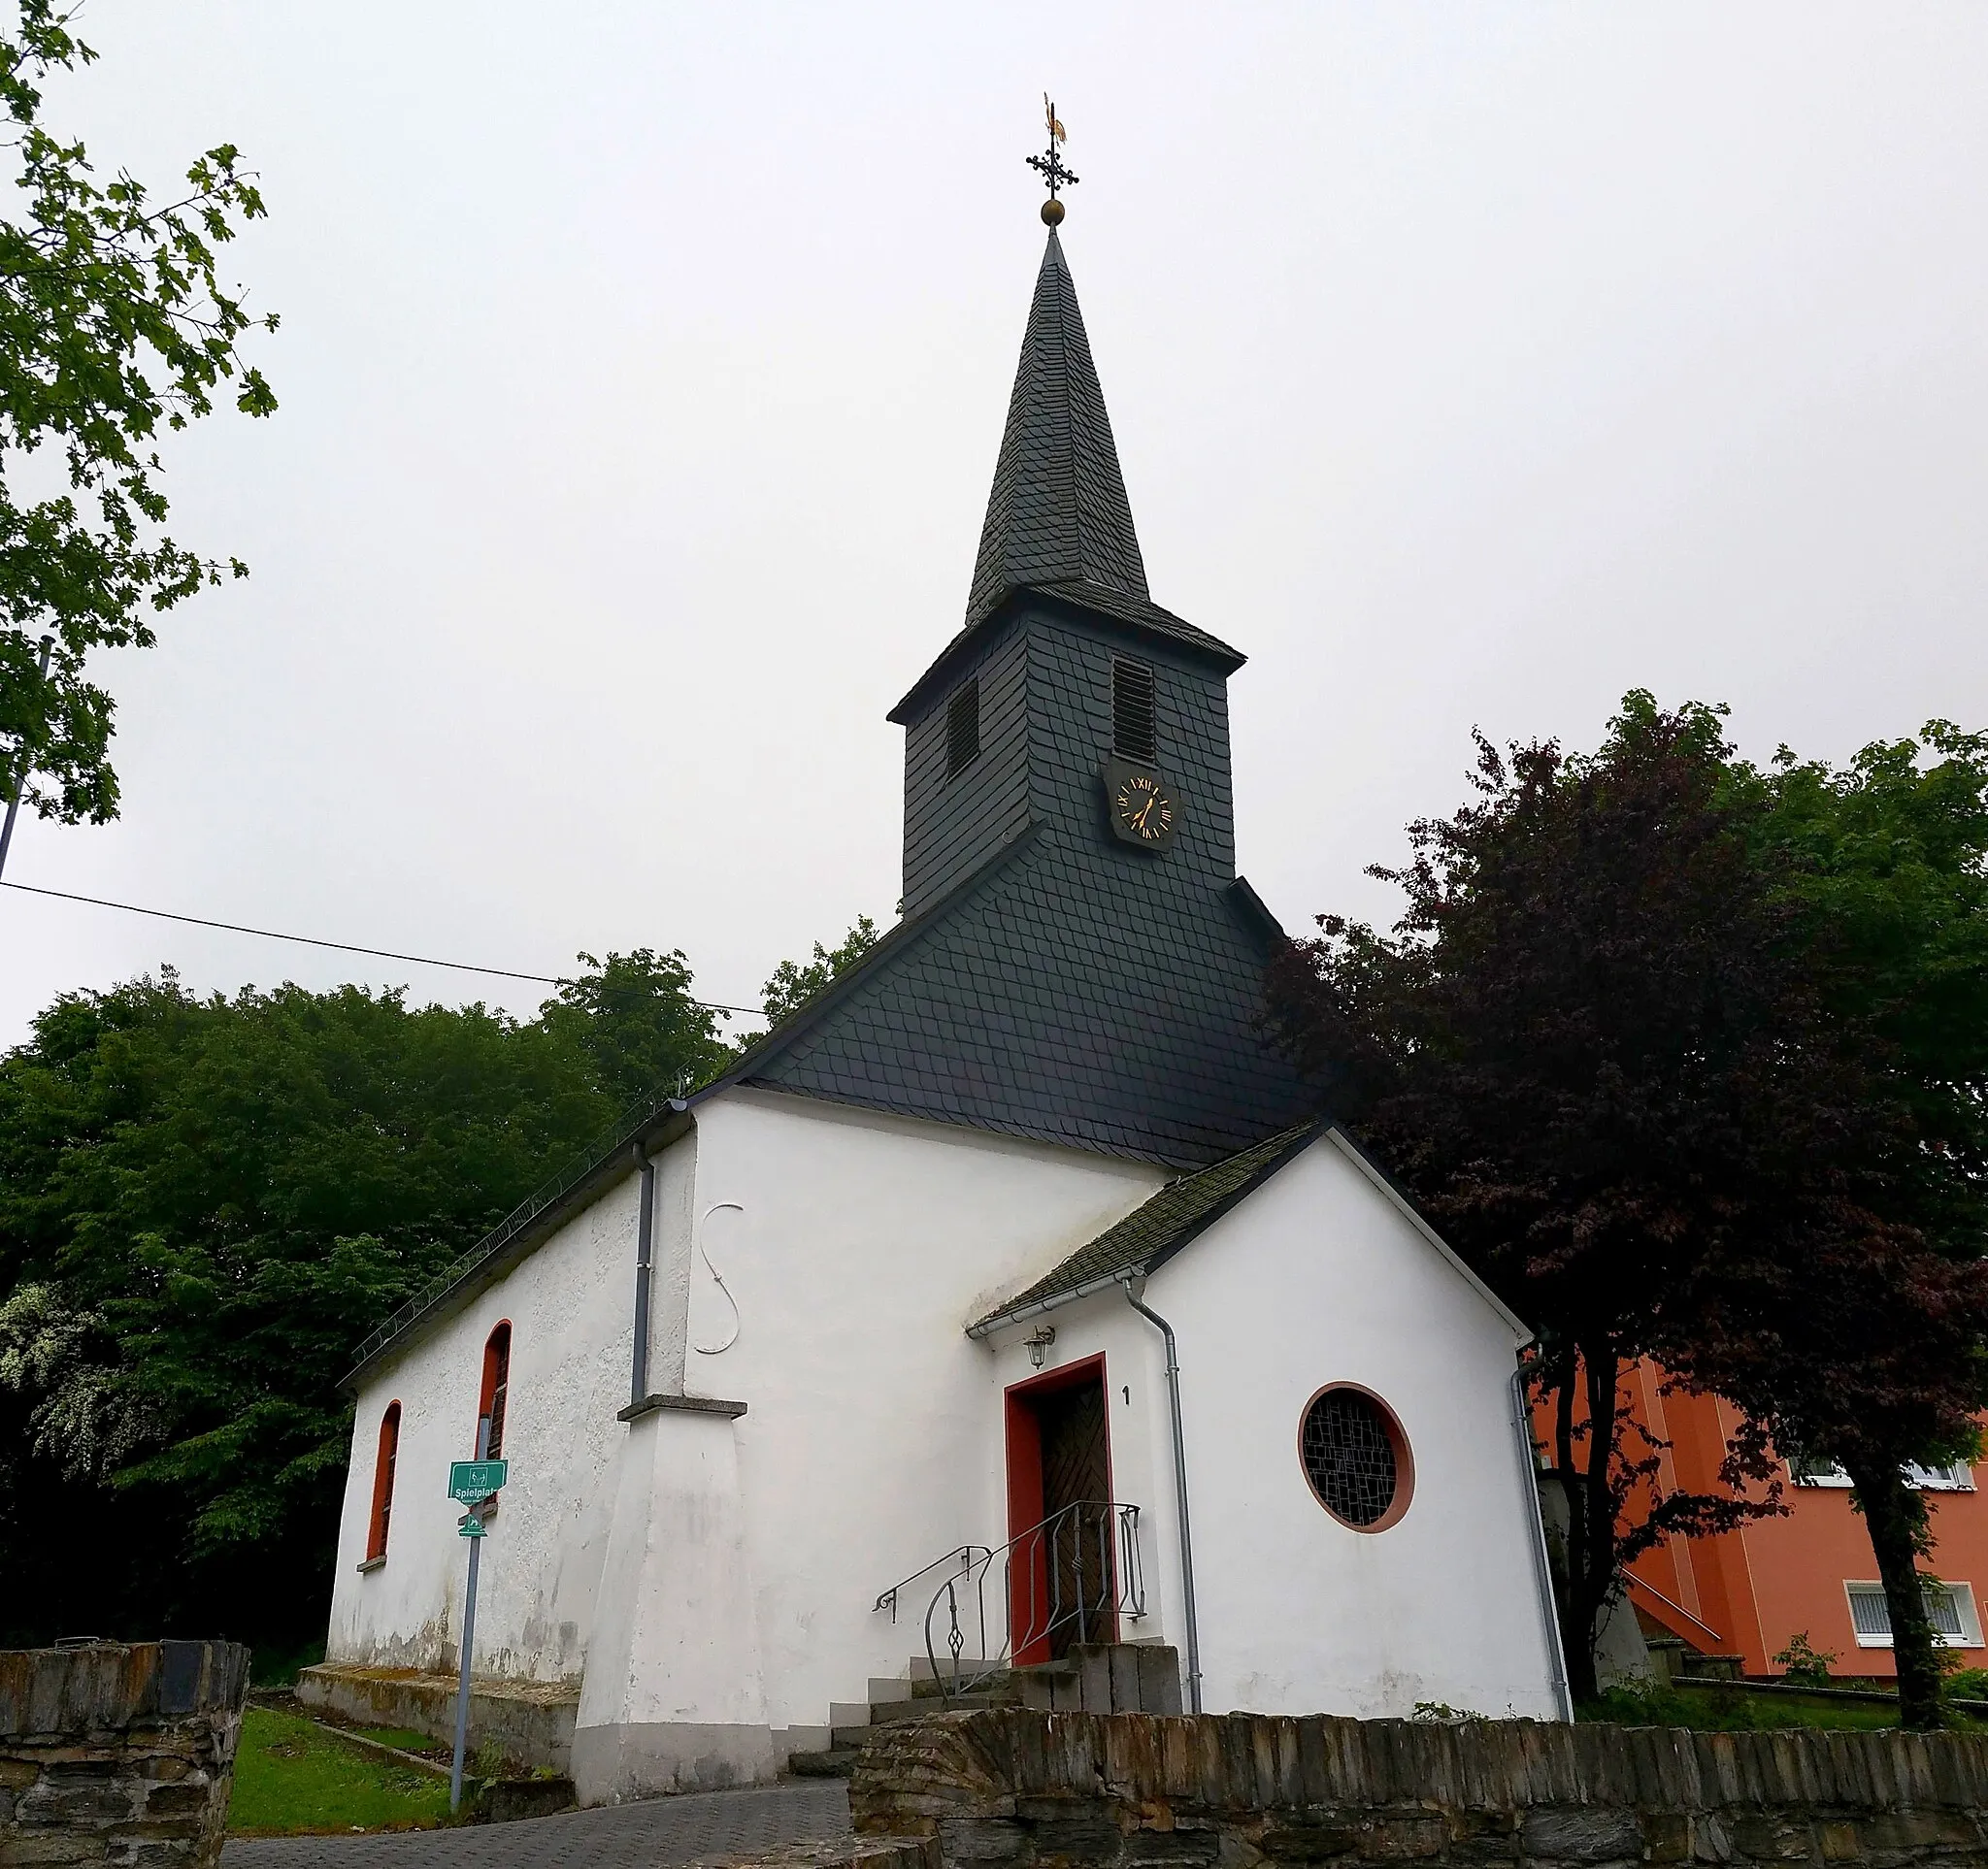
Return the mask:
M531 1022L171 976L50 1006L0 1060L0 1640L308 1640L354 1348L710 1064L688 992L610 954Z

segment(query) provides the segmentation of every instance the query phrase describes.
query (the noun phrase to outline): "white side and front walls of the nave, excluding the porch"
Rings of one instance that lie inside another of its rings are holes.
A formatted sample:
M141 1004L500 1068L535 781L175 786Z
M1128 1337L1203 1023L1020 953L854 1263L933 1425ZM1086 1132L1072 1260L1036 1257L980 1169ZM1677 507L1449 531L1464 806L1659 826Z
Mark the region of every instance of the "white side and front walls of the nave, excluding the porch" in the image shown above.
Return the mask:
M680 1624L640 1605L596 1603L602 1589L654 1591L688 1557L672 1557L668 1527L648 1543L622 1527L624 1555L602 1583L618 1495L624 1517L638 1499L690 1497L652 1483L650 1444L734 1436L740 1569L757 1611L740 1654L763 1658L771 1728L825 1740L831 1704L861 1702L871 1676L901 1676L922 1642L916 1618L893 1628L873 1613L877 1595L950 1545L1008 1533L1000 1380L966 1322L1163 1179L1143 1163L807 1098L726 1092L700 1105L694 1135L656 1157L648 1386L740 1400L747 1414L616 1420L632 1354L630 1173L368 1378L328 1658L455 1666L465 1553L443 1487L449 1461L473 1451L483 1344L509 1318L511 1483L483 1547L477 1672L575 1680L604 1618L626 1652L616 1648L612 1692L590 1684L582 1724L738 1724L761 1686L742 1684L734 1660L692 1654ZM392 1541L388 1563L360 1575L392 1400ZM630 1447L644 1457L624 1471Z

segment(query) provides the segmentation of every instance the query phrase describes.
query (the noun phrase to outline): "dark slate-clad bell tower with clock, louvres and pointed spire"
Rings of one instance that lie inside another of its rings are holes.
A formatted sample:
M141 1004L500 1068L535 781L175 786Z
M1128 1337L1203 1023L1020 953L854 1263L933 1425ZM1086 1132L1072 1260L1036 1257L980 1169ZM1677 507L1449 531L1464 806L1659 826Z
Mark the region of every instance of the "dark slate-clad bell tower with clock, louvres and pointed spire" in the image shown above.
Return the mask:
M1062 203L1056 203L1062 207ZM1153 602L1077 288L1050 229L966 622L905 728L905 913L1032 819L1235 877L1227 678L1242 656Z

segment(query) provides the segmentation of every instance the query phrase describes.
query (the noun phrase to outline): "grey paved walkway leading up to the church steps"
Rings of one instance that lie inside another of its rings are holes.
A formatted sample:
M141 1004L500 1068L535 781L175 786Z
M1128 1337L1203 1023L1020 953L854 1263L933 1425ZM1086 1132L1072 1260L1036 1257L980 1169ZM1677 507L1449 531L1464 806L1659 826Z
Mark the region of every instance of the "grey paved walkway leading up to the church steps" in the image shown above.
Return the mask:
M221 1869L672 1869L849 1829L849 1787L765 1785L600 1805L523 1823L378 1837L239 1837Z

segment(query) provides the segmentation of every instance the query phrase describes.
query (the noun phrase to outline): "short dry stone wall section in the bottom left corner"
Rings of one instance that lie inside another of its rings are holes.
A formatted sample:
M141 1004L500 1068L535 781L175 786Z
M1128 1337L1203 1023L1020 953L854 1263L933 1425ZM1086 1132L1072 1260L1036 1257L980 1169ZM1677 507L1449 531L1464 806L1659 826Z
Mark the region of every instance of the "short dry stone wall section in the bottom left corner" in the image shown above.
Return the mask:
M0 1650L0 1865L217 1863L247 1690L239 1642Z

